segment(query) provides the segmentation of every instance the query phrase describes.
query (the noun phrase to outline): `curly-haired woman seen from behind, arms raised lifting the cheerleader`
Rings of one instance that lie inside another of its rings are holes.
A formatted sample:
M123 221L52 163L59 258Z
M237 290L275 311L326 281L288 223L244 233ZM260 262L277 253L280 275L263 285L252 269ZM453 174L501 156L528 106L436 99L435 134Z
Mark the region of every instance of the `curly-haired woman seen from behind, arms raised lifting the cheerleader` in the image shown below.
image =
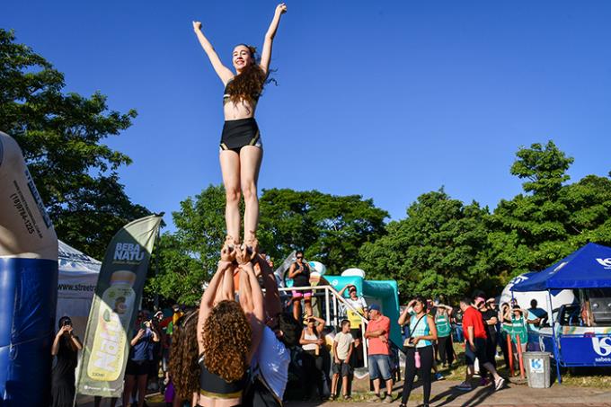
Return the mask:
M252 301L244 314L234 301L234 258L239 264L240 297ZM244 290L250 290L245 294ZM246 371L261 341L263 295L246 249L221 252L218 269L199 305L199 400L203 407L230 407L242 403Z

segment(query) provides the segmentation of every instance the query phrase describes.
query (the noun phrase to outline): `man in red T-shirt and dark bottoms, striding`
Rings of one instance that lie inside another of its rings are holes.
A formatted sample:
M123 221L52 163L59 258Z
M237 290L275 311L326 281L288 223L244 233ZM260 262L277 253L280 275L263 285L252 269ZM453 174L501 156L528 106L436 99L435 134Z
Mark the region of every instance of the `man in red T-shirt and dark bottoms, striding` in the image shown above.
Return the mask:
M480 366L485 367L494 376L494 388L500 390L505 379L499 376L486 355L486 330L483 327L482 313L477 309L482 297L477 297L472 304L469 298L460 301L460 309L463 311L463 332L465 333L465 381L458 385L458 390L471 390L471 377L474 376L475 358L480 361Z

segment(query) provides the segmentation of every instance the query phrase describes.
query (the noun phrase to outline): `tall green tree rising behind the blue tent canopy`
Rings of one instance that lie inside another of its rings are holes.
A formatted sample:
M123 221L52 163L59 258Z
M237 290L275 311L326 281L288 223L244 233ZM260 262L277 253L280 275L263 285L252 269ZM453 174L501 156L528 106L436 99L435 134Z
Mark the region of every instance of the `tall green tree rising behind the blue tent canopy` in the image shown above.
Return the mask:
M503 281L543 270L588 242L611 243L611 181L589 175L566 185L573 159L549 141L518 150L511 173L524 194L501 200L489 217L493 270Z

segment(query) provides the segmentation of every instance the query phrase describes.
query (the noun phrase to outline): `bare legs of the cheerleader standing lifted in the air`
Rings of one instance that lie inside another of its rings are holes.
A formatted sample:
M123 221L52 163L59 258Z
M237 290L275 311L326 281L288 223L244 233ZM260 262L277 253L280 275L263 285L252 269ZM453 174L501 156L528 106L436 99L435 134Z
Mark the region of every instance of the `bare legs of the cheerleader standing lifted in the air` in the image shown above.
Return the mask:
M226 193L225 219L227 234L240 241L240 198L244 196L244 241L255 238L259 223L259 199L257 181L263 150L244 146L238 155L232 150L220 152L219 160Z

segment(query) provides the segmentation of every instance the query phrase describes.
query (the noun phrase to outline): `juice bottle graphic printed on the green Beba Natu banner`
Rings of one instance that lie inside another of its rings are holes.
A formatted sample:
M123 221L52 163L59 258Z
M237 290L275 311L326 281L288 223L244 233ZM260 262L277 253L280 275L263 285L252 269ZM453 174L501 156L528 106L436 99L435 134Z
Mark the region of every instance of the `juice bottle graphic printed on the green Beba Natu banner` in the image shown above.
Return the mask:
M93 380L112 382L121 374L123 360L127 357L125 345L136 297L132 288L135 282L135 273L115 271L111 275L111 287L102 294L98 325L87 365L87 376Z

